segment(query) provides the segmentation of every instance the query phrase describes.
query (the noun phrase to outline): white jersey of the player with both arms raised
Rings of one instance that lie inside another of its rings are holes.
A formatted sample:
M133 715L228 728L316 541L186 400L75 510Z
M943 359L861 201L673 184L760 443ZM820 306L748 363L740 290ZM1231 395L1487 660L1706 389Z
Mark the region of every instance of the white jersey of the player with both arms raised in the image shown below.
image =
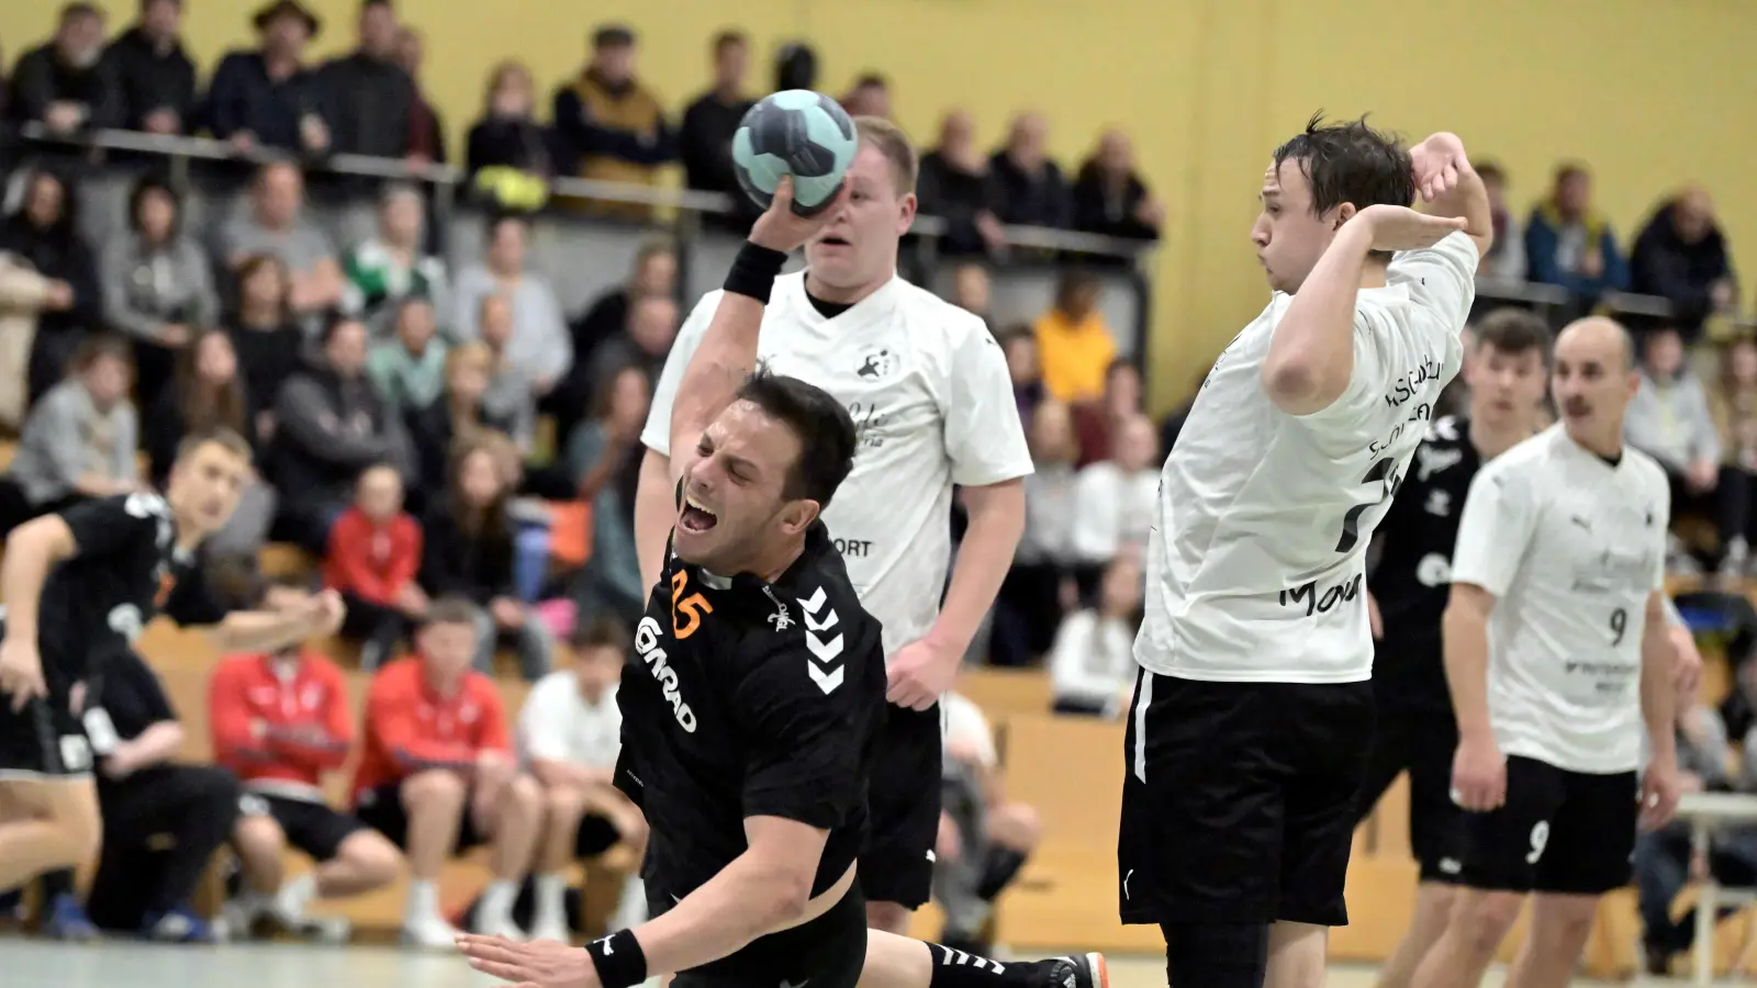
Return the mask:
M1214 364L1160 473L1135 657L1211 682L1372 677L1365 554L1476 297L1462 232L1399 253L1355 302L1355 371L1328 408L1288 415L1262 366L1293 302L1276 294Z

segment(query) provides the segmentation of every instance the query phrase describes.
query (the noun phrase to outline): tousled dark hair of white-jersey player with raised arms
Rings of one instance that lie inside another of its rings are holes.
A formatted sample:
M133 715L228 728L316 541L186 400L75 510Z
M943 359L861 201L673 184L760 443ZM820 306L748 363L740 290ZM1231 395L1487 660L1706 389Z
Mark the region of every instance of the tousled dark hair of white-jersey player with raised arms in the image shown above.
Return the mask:
M1325 123L1312 114L1305 132L1276 148L1276 169L1298 162L1312 186L1312 214L1321 216L1344 202L1409 206L1416 200L1414 165L1395 134L1367 127L1367 118Z

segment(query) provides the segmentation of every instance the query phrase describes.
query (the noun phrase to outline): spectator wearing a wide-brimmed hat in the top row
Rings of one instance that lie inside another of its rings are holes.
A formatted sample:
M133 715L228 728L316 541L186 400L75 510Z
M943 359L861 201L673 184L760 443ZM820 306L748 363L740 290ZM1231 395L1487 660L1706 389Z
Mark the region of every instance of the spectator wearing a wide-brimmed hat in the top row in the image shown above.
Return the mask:
M207 84L207 128L239 149L327 151L318 74L306 65L306 46L323 23L297 0L274 0L253 23L262 46L227 53Z

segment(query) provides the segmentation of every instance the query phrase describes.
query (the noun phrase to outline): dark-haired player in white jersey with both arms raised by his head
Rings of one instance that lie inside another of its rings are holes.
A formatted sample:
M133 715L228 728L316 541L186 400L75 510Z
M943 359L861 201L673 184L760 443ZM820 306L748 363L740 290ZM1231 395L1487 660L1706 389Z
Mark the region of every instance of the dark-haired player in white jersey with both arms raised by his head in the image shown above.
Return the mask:
M1135 640L1117 891L1172 988L1323 983L1372 735L1365 550L1493 236L1451 134L1312 120L1262 197L1276 294L1165 461Z

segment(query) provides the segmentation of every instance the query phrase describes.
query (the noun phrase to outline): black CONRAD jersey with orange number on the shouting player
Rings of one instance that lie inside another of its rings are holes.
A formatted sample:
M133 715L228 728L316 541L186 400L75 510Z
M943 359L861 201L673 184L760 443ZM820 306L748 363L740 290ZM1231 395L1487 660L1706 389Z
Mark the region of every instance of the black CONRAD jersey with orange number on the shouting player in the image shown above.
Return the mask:
M647 814L641 875L678 900L741 854L745 817L828 830L819 895L866 840L884 643L822 522L773 584L666 566L617 691L615 782Z

